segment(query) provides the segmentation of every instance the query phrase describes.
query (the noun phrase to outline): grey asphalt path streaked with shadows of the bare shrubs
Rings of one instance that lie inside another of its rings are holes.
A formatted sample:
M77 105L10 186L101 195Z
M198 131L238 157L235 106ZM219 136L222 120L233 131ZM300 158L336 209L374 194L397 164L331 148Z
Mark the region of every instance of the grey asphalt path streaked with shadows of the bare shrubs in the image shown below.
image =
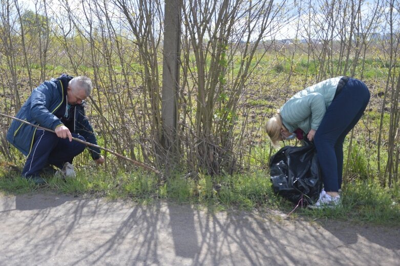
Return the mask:
M400 228L266 212L0 196L0 265L400 265Z

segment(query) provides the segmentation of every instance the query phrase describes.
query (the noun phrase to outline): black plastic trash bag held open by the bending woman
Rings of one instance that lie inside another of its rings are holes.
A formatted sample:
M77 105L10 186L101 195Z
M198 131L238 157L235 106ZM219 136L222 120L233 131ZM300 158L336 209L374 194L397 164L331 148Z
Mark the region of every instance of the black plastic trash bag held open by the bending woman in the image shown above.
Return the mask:
M312 204L322 190L322 174L314 145L286 146L269 160L272 190L293 203Z

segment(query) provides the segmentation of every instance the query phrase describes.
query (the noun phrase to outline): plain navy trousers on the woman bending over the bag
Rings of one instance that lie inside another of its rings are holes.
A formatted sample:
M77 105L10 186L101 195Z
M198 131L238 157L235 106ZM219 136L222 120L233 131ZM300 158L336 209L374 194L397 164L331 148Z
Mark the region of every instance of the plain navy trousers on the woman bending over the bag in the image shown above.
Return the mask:
M360 80L350 78L327 108L315 132L314 145L320 161L325 191L342 187L343 142L368 105L370 93Z

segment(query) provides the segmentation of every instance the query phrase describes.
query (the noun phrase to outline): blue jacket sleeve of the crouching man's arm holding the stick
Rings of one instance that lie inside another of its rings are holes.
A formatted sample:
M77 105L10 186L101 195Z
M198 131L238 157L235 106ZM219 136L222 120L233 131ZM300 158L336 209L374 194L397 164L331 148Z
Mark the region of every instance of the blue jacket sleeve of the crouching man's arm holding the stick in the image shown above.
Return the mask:
M51 103L56 100L56 89L51 82L46 81L32 91L30 114L41 126L54 130L61 125L61 120L49 110Z

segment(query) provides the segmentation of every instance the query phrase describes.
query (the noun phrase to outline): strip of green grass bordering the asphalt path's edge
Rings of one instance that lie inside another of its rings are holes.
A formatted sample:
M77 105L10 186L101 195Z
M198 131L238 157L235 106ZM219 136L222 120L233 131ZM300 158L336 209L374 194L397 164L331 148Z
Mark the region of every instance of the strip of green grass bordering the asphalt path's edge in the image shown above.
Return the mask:
M166 180L143 172L120 172L110 175L100 169L82 169L75 179L62 180L47 176L47 185L36 186L20 178L18 171L2 167L0 191L6 194L30 192L63 193L84 197L129 199L140 203L154 200L198 204L216 210L280 210L288 214L295 206L272 192L267 171L234 176L199 174L184 178L176 174ZM355 223L400 225L399 182L391 189L382 188L373 178L345 183L342 206L336 209L311 210L299 208L293 217L350 220Z

